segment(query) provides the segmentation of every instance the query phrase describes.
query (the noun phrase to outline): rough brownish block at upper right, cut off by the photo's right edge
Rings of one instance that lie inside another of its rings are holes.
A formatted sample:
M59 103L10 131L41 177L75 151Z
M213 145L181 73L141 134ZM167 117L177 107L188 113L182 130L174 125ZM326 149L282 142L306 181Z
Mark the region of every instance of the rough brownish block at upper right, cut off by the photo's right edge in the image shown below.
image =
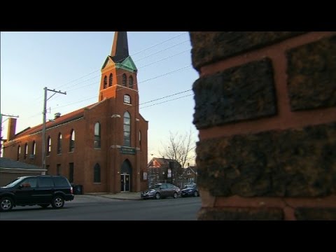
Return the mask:
M288 50L292 111L336 106L336 36Z

